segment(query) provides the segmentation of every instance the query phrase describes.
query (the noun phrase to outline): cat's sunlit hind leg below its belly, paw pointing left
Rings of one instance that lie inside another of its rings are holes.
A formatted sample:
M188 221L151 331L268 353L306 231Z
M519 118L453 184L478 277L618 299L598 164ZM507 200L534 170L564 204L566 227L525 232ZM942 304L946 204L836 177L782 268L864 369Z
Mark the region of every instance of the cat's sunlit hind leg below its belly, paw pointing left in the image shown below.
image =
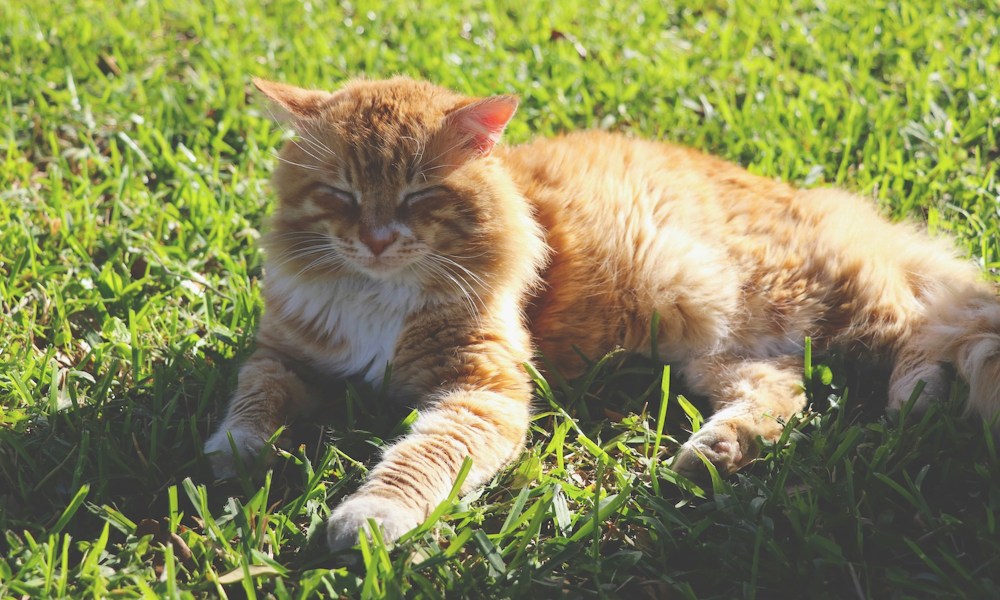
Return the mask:
M702 357L690 361L684 375L715 410L674 458L674 470L687 476L704 472L699 455L722 475L745 466L760 453L757 439L777 441L806 404L801 358Z

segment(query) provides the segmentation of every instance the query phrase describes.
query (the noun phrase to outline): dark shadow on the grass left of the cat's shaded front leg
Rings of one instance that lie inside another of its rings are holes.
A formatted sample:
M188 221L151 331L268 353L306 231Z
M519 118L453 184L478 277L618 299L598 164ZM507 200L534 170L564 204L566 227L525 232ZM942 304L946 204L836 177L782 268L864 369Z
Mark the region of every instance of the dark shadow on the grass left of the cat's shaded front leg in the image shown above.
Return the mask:
M167 512L168 487L211 481L200 442L222 406L236 361L166 355L124 393L110 369L82 406L70 405L0 430L0 528L46 532L82 487L86 505L109 505L138 522ZM63 532L94 535L103 520L80 510Z

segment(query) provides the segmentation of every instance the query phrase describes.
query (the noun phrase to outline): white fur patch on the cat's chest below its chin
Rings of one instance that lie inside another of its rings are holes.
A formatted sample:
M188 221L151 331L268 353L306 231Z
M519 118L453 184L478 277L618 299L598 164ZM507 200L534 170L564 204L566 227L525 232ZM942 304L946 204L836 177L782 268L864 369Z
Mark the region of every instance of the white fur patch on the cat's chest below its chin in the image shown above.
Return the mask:
M310 337L326 340L303 358L327 374L362 375L369 383L382 381L407 316L426 303L414 283L363 276L303 281L269 273L266 285L267 296L280 299L279 320L306 324Z

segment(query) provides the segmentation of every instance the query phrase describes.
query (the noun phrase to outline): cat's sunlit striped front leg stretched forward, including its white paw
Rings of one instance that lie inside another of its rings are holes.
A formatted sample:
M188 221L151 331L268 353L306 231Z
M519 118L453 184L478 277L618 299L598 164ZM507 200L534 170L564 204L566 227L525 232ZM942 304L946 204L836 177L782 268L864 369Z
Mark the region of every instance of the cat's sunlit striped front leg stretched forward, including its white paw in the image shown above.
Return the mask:
M333 511L327 540L339 550L358 542L368 519L387 541L413 529L448 497L466 457L461 493L486 483L524 445L530 388L519 395L484 390L439 395L408 435L390 446L361 488Z

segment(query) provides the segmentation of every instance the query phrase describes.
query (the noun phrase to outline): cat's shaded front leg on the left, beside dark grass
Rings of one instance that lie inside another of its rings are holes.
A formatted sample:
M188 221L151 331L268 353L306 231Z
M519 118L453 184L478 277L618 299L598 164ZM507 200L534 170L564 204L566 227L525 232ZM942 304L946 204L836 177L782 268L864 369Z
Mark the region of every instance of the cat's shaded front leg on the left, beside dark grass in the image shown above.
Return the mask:
M251 464L265 442L301 408L308 397L305 382L289 369L282 357L261 348L240 369L236 392L219 429L205 442L212 472L220 479L237 475L237 458Z

